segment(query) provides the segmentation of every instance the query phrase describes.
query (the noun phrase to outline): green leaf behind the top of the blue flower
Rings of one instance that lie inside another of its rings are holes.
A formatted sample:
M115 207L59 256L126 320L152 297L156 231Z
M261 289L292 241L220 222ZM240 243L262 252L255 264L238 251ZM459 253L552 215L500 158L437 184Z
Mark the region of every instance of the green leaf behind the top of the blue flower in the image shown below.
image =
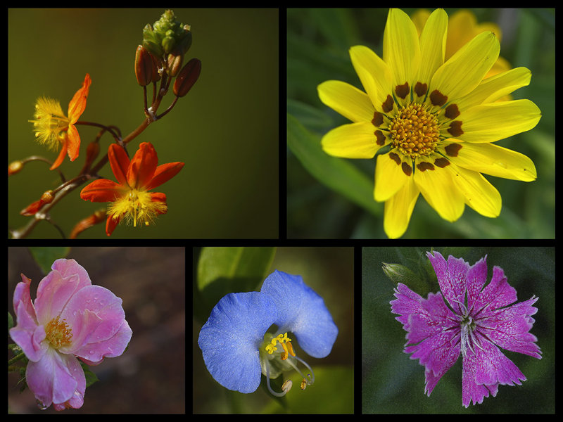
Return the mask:
M275 248L203 248L197 286L215 305L227 293L256 290L274 259Z

